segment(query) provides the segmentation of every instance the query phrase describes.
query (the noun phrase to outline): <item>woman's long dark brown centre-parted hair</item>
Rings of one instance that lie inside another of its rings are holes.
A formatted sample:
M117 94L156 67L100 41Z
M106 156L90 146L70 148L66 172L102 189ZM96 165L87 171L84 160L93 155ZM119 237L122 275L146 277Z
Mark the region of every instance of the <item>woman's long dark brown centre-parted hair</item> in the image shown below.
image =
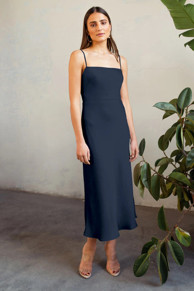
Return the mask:
M108 15L108 13L101 7L95 7L93 6L92 8L90 8L86 14L85 14L85 17L83 19L83 35L82 35L82 41L81 41L81 48L80 49L85 49L85 48L89 48L91 46L91 42L88 41L87 39L87 20L88 20L88 17L94 13L94 12L98 12L98 13L102 13L104 14L105 16L107 16L108 20L109 20L109 24L111 24L111 19ZM111 34L112 34L112 25L111 25ZM88 35L88 38L89 38L89 35ZM113 36L111 36L110 38L107 39L107 48L113 52L115 54L115 57L116 57L116 60L118 62L118 49L116 47L116 43L115 41L113 40Z

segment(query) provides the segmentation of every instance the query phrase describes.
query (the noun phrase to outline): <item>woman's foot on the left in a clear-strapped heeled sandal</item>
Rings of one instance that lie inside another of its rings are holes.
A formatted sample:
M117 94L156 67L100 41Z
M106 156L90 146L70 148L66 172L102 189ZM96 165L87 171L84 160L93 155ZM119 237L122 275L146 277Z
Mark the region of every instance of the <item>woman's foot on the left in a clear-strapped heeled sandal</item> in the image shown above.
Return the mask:
M89 278L92 274L92 263L96 252L96 243L86 242L82 248L81 263L79 266L80 275Z

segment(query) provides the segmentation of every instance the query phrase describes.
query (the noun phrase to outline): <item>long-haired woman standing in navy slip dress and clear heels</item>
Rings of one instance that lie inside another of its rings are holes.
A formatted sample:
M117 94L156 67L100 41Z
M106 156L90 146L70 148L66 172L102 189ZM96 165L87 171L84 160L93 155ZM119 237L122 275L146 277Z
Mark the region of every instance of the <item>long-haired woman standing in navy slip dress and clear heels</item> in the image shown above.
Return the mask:
M106 241L107 271L117 276L118 230L137 227L130 162L139 150L129 104L127 60L118 54L110 17L100 7L87 11L81 49L71 53L69 97L85 192L87 242L79 272L84 278L91 276L98 239Z

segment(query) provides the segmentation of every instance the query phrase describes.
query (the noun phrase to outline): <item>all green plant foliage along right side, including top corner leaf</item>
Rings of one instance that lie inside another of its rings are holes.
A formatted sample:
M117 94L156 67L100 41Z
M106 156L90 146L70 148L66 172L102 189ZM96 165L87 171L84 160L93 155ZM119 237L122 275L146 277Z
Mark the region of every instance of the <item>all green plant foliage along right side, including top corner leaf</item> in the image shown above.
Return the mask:
M179 34L179 36L194 36L194 5L184 5L186 0L161 1L169 9L177 29L191 29ZM185 43L186 45L194 50L194 39ZM135 276L145 275L149 267L150 256L155 252L161 284L166 282L168 271L170 271L167 247L176 263L181 266L184 262L184 253L180 243L184 246L191 244L189 232L181 229L178 224L194 207L194 109L192 109L192 105L194 102L192 102L192 90L189 87L184 88L178 98L169 102L158 102L154 105L154 107L164 111L162 119L177 114L178 120L158 140L158 146L162 150L163 156L155 162L155 167L151 167L144 159L146 141L142 139L139 145L139 155L142 156L142 161L135 165L133 171L134 184L138 187L142 197L145 188L147 188L156 201L159 198L166 199L170 195L174 195L177 199L178 210L182 211L184 207L186 208L171 230L168 227L164 207L160 208L158 226L167 233L162 240L154 236L151 237L151 240L144 244L141 255L133 265ZM167 156L165 151L172 139L176 148L170 156ZM164 171L169 165L173 166L173 171L165 177ZM178 242L175 241L175 237Z

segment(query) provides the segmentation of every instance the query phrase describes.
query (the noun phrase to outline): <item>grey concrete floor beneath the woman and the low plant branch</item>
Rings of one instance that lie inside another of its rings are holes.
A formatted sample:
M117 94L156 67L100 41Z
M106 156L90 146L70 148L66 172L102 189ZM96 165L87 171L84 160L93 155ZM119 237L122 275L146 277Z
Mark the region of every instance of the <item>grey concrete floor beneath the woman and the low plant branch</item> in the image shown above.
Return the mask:
M84 237L84 202L80 199L0 190L0 291L193 291L194 212L179 226L192 236L183 245L185 260L178 266L169 253L170 272L161 286L156 253L142 277L135 277L133 264L152 236L164 237L157 225L159 208L136 206L138 227L120 230L117 257L121 273L106 271L104 243L97 240L93 271L81 277L78 266ZM171 229L183 213L165 209ZM176 239L176 236L175 240Z

